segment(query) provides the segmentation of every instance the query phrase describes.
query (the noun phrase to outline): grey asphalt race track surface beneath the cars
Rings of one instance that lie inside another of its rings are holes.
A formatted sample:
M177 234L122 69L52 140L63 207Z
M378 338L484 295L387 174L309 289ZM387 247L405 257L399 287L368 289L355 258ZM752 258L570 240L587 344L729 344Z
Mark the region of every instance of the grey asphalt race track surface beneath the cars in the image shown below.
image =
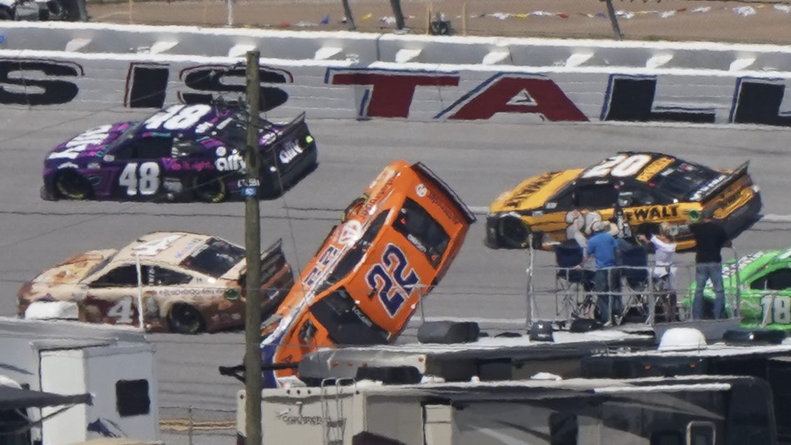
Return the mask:
M84 250L125 245L153 230L191 230L240 244L244 241L243 203L76 203L40 199L47 150L89 127L145 115L26 109L0 112L0 314L16 314L15 295L21 283ZM338 221L341 209L384 165L398 158L422 161L480 217L445 280L426 300L424 312L429 318L475 319L500 329L524 329L528 255L490 250L483 245L486 207L524 177L589 165L616 150L664 151L721 168L736 167L749 159L768 216L736 240L736 249L751 253L791 245L789 130L412 124L395 120L310 120L310 116L308 124L319 144L319 168L285 199L262 203L262 244L283 238L287 257L301 269ZM536 265L549 266L552 260L551 254L539 253ZM683 255L681 260L691 261L691 257ZM539 290L554 287L551 269L539 269L534 283ZM554 299L539 303L539 315L554 317ZM414 321L419 316L418 312ZM414 329L406 334L407 339L414 338ZM206 418L233 419L230 411L240 384L218 375L217 367L240 363L244 353L242 333L194 337L158 334L151 338L157 344L163 418L187 416L187 406L191 405ZM206 409L228 412L203 412ZM233 430L224 432L231 433ZM214 442L202 437L206 443ZM172 442L168 439L168 443Z

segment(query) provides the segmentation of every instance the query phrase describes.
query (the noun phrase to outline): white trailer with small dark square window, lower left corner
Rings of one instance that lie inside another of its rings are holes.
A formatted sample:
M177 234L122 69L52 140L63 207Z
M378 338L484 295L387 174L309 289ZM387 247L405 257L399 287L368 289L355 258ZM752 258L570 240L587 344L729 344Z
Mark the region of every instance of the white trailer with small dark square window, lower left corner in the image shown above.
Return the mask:
M6 386L30 394L75 396L66 399L74 403L71 406L20 406L29 429L19 428L19 441L12 443L158 438L154 349L142 331L0 318L0 350L0 375Z

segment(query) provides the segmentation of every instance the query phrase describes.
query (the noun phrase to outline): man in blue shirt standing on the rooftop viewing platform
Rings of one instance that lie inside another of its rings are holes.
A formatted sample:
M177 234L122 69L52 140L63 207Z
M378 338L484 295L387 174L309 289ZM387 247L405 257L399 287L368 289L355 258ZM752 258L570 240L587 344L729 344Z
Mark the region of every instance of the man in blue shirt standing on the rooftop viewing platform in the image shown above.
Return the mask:
M599 320L605 325L611 324L612 316L620 316L623 307L621 295L612 295L611 291L620 291L621 275L618 266L619 245L610 233L610 222L596 222L592 229L594 234L585 246L585 260L596 259L596 274L593 276L593 291L596 292L596 307ZM612 301L612 307L610 307ZM617 321L617 320L616 320Z

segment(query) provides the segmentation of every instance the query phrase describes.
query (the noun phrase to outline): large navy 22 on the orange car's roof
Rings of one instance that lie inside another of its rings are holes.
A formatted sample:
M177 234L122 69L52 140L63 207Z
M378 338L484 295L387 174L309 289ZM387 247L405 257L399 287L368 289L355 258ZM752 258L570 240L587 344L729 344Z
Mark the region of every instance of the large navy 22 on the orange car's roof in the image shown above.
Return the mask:
M407 257L397 245L388 244L382 260L368 271L365 281L374 291L377 290L380 302L390 317L395 317L409 298L415 284L420 282L414 269L404 270L409 264Z

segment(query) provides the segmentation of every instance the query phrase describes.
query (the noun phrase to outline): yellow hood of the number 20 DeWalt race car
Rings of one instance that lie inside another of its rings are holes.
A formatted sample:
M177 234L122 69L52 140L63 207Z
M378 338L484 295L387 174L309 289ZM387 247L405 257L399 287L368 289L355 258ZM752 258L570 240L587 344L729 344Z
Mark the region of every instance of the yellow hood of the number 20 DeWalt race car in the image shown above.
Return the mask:
M547 200L576 179L582 169L542 173L522 181L517 187L502 192L490 206L490 212L530 210L543 207Z

